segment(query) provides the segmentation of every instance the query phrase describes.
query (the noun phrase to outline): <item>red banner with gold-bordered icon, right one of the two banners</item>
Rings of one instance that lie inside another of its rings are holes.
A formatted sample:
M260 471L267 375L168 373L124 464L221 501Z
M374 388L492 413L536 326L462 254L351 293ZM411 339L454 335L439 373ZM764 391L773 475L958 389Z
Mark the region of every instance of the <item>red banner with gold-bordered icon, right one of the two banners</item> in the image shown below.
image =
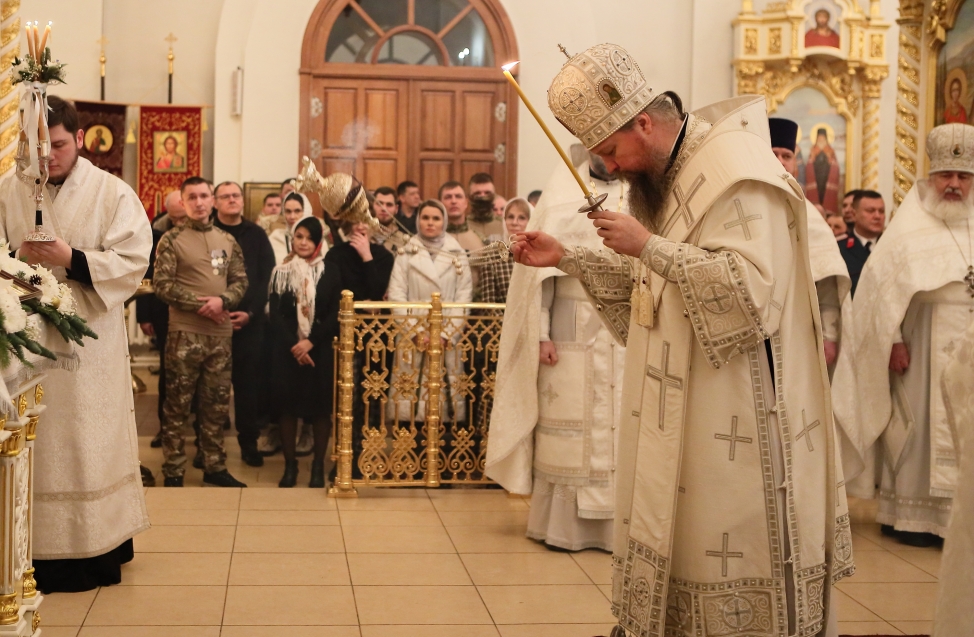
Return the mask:
M139 114L138 192L149 218L166 195L203 171L203 109L143 106Z

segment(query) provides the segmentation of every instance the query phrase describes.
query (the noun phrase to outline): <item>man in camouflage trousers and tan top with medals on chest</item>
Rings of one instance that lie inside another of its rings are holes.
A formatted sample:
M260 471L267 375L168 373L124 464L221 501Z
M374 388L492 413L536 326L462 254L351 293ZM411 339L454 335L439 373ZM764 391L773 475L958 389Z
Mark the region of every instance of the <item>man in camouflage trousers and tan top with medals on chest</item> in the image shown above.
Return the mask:
M229 312L247 291L243 252L233 237L210 221L209 182L190 177L181 192L188 220L159 240L152 279L156 296L169 305L162 473L165 486L183 486L183 426L198 389L203 483L245 487L227 471L223 447L233 363Z

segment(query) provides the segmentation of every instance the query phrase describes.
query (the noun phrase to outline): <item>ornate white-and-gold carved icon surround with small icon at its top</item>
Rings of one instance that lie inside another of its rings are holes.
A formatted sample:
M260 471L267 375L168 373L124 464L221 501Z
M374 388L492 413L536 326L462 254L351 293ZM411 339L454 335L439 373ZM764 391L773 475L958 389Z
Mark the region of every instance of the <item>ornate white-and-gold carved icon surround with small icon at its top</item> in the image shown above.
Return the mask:
M831 128L825 120L822 124L815 119L799 121L803 136L799 141L804 141L805 151L809 151L810 141L815 145L809 135L820 126L828 131L828 147L839 135L835 126L844 128L844 163L841 150L831 151L845 176L836 184L840 193L879 187L880 103L883 80L889 75L886 38L890 27L880 8L880 0L870 0L868 13L857 0L834 0L834 8L824 11L825 24L818 25L823 5L812 0L769 2L760 13L752 0L742 0L741 13L734 21L736 94L764 95L769 114L796 121L806 111L812 117L827 103L833 111ZM825 102L818 103L822 96ZM786 102L787 108L783 108ZM809 157L813 152L814 148ZM804 186L805 175L798 177ZM821 203L826 209L838 212L829 208L836 202L825 198L823 195Z

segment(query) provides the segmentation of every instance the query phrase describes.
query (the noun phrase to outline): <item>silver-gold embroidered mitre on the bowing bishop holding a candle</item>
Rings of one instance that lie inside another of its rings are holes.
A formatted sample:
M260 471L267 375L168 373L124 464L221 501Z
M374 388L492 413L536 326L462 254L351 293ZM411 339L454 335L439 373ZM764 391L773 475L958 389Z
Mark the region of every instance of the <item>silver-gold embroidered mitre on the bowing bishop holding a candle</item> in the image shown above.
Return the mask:
M639 114L655 94L632 56L599 44L572 57L548 88L548 107L588 149Z

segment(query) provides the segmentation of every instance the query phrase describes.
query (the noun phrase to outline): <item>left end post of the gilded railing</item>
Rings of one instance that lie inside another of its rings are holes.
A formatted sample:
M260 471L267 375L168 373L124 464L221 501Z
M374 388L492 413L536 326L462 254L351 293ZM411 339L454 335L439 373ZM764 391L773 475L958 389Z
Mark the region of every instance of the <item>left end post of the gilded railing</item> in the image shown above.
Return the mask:
M348 290L342 290L342 301L338 311L341 326L338 336L338 422L336 423L335 445L338 448L338 467L335 484L328 490L331 497L351 497L358 495L352 486L352 400L355 389L355 375L352 370L355 358L355 299Z

